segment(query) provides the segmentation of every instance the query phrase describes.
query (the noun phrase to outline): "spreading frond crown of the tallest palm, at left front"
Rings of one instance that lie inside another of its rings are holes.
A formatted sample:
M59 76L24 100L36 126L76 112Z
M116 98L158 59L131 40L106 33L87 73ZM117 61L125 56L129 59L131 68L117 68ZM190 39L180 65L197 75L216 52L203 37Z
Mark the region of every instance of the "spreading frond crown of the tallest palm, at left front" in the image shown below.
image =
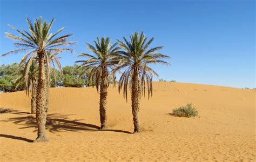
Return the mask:
M46 63L46 71L50 71L49 65L51 60L49 58L49 55L47 55L47 53L51 53L51 52L60 53L63 51L72 52L73 51L72 49L59 48L59 46L63 46L63 45L66 46L66 45L74 44L76 42L67 42L66 39L72 36L70 34L56 37L56 35L58 35L58 33L64 30L65 28L61 28L55 33L50 33L51 26L55 22L54 18L50 23L47 23L47 21L43 22L42 17L40 17L39 19L36 19L36 21L33 24L31 23L28 17L26 18L26 21L29 24L29 32L24 29L19 30L14 26L9 25L12 29L16 30L19 34L21 34L21 36L15 36L9 32L5 33L5 35L8 38L19 41L18 43L14 43L16 47L19 49L4 53L2 56L6 56L11 53L26 52L26 54L21 60L20 67L24 63L26 63L25 69L24 69L24 72L25 72L24 76L28 77L28 72L29 72L32 60L35 59L35 57L38 58L37 55L41 53L43 54L45 58L45 63Z

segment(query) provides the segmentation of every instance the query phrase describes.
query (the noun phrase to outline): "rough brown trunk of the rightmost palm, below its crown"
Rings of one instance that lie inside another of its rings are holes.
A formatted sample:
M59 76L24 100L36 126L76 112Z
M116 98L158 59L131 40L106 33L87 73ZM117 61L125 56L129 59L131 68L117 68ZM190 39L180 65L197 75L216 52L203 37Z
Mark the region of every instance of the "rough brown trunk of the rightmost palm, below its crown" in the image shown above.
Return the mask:
M134 70L132 75L132 115L133 115L133 125L134 133L140 132L140 122L139 122L139 82L138 82L138 71Z

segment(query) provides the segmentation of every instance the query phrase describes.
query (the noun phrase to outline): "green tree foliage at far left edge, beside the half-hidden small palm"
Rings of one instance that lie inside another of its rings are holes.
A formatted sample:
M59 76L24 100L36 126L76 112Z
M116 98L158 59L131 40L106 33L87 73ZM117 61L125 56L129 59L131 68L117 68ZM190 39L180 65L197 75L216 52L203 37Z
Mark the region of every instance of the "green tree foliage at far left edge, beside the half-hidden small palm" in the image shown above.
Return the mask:
M15 80L19 65L17 63L11 65L0 66L0 91L13 92L15 90ZM18 90L22 89L18 87Z

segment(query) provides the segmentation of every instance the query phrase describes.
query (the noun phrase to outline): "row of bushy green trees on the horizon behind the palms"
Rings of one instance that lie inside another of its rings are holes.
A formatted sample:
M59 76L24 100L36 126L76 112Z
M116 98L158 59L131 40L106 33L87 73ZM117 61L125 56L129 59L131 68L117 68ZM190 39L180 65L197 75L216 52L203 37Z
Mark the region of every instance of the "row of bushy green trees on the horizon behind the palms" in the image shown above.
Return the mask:
M19 64L0 65L0 91L14 92L23 90L23 86L16 87L15 81L19 77ZM52 71L55 69L51 69ZM83 70L77 64L73 66L65 66L62 69L63 75L59 70L51 72L51 87L84 87L89 86L88 75L90 70Z

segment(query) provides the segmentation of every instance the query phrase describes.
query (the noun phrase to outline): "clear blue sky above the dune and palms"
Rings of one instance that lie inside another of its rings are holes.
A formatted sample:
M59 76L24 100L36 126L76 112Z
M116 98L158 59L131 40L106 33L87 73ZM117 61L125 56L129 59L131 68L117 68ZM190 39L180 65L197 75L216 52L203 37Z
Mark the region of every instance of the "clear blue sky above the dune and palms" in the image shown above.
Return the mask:
M163 45L171 66L152 65L165 80L255 87L254 1L1 1L0 53L14 50L9 28L28 29L30 19L55 17L52 32L72 33L76 52L88 52L85 42L97 36L112 42L144 31ZM63 53L63 66L73 65L77 54ZM23 53L0 58L0 64L19 62ZM158 80L159 78L154 78Z

